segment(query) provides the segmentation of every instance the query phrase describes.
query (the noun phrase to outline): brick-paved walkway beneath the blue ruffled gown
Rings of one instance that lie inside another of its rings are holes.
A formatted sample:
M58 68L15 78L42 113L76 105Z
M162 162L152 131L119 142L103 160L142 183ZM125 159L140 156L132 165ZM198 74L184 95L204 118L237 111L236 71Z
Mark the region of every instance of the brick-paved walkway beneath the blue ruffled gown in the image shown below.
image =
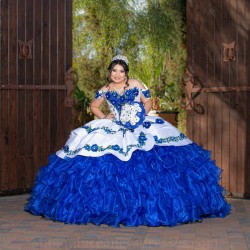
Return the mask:
M250 200L230 199L232 213L176 227L66 225L23 211L28 195L0 197L0 249L250 249Z

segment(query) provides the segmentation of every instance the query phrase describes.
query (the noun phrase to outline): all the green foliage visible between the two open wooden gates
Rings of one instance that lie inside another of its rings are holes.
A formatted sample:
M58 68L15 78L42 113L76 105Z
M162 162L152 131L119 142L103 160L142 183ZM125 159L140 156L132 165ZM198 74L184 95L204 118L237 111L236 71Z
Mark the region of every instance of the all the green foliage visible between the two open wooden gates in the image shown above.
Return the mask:
M185 70L185 0L74 0L74 62L87 97L106 84L118 53L162 110L179 110Z

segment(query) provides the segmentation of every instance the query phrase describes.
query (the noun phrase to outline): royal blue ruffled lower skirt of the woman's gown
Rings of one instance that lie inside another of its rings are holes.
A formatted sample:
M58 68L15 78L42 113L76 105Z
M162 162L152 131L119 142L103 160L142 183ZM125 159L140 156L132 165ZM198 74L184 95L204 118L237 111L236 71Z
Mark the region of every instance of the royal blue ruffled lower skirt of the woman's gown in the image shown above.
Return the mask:
M40 169L25 206L65 223L174 226L224 217L231 206L218 184L221 170L195 143L137 150L129 161L109 154L61 159Z

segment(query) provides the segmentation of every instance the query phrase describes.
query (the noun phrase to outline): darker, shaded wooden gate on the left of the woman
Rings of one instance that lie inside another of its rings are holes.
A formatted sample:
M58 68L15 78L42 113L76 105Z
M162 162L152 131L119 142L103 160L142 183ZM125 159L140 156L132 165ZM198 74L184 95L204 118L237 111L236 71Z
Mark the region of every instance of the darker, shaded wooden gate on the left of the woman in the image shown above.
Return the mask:
M62 147L72 65L72 0L0 0L0 194L33 185Z

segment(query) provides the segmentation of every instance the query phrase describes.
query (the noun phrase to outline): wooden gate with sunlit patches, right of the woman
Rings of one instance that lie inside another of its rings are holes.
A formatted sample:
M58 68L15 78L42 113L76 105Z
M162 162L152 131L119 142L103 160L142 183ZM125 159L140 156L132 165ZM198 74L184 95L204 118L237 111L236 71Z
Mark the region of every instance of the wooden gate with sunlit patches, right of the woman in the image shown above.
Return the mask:
M239 197L250 195L249 31L249 1L187 0L187 135Z

